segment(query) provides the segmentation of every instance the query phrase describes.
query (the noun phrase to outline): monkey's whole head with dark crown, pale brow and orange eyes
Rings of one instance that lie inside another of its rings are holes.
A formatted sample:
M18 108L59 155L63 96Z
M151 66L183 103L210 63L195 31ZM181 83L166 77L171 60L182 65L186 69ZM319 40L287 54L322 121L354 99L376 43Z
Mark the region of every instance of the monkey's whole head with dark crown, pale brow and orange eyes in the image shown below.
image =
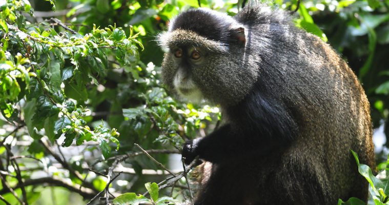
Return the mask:
M227 14L183 12L158 40L166 51L162 81L182 98L231 106L255 83L258 71L247 66L244 26Z

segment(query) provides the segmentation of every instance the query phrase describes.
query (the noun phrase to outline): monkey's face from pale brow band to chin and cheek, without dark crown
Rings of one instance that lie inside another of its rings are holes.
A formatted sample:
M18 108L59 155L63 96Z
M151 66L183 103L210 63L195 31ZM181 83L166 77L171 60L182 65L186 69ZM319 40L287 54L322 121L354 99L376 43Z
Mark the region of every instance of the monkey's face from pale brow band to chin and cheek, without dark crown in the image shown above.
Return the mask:
M184 99L229 106L254 84L257 73L244 68L244 45L227 47L187 30L168 32L159 40L166 49L162 81Z

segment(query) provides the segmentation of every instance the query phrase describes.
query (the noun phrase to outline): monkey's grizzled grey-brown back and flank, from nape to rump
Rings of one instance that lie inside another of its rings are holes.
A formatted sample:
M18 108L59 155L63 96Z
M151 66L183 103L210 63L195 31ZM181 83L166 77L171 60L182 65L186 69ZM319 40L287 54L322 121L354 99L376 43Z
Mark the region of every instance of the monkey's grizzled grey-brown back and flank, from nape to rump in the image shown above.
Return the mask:
M286 150L262 160L262 178L269 175L280 180L283 185L272 186L301 204L311 200L304 195L317 195L324 200L320 204L335 204L338 198L352 196L365 200L367 182L358 174L350 150L358 153L361 163L374 167L366 95L353 71L329 45L295 28L285 16L259 7L236 16L249 30L251 47L246 52L255 55L259 49L261 53L245 65L259 68L256 86L288 107L298 126ZM277 159L282 162L274 162ZM317 183L307 185L296 178ZM267 182L262 185L265 188ZM262 197L269 202L279 194L266 190ZM312 191L301 193L304 190Z

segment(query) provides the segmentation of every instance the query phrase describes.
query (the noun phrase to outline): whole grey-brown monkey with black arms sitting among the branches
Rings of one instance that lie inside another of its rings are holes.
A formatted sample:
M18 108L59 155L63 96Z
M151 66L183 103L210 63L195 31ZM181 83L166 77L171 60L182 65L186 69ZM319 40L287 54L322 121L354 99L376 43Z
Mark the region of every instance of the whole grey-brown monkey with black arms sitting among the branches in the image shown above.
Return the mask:
M235 17L183 12L159 41L168 88L222 111L222 126L183 147L187 163L198 155L213 164L196 205L367 200L350 150L374 168L369 103L320 38L257 5Z

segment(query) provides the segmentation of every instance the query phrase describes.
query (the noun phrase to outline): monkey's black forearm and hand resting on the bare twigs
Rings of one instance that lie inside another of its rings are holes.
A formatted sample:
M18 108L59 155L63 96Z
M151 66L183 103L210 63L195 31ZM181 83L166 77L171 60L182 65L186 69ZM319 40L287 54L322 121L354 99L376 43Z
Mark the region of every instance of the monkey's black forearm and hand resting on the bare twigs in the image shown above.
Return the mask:
M231 161L244 156L260 156L270 152L284 143L280 139L259 137L258 133L247 133L224 125L210 135L188 141L182 149L185 163L190 163L196 156L211 162ZM285 140L286 141L286 140Z

